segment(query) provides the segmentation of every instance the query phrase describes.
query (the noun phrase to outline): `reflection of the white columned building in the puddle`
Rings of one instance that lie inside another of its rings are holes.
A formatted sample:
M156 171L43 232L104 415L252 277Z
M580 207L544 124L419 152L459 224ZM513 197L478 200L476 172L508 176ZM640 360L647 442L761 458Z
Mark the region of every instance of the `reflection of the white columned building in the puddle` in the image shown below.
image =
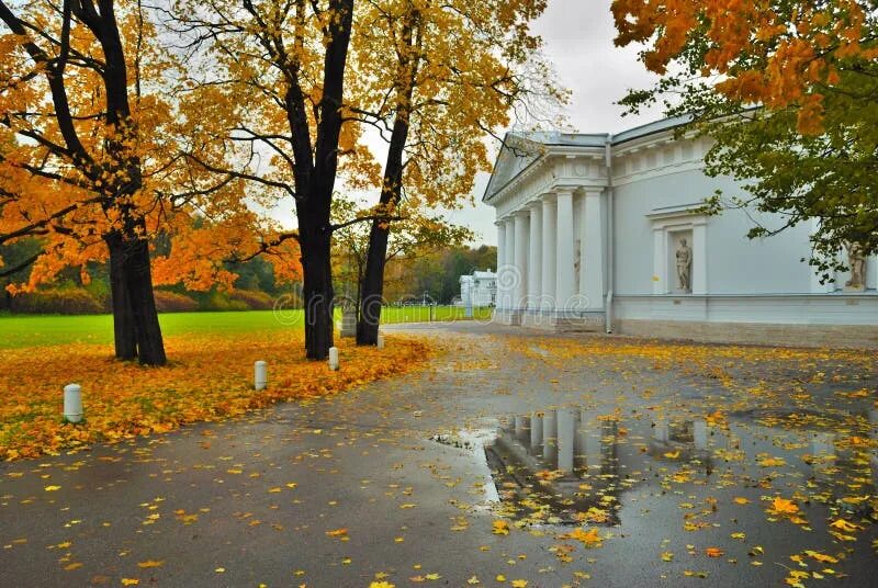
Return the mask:
M878 410L863 416L871 423L868 438L878 440ZM811 494L821 502L848 511L870 508L855 508L849 495L875 495L874 449L864 453L849 441L840 443L854 433L769 427L764 420L751 415L722 426L706 418L621 422L595 410L551 409L506 419L485 454L507 513L531 523L617 524L622 493L638 485L669 477L707 491L717 467L770 478L774 471L759 466L767 454L783 460L785 472L812 480Z

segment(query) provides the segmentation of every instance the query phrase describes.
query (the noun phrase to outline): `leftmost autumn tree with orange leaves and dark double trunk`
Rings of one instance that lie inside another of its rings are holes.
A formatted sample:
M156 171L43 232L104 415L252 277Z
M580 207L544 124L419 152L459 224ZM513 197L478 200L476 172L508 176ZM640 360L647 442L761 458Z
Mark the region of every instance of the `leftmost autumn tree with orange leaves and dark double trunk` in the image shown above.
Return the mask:
M0 245L40 244L0 271L32 267L27 283L10 289L33 290L67 267L85 281L88 262L109 262L116 357L162 364L150 238L203 241L191 230L200 218L223 259L258 250L264 223L248 212L239 178L180 156L185 147L223 160L193 124L202 113L175 99L181 67L159 42L155 12L135 1L0 2L0 21L9 31L0 37ZM166 264L159 280L206 280L209 265L190 261Z

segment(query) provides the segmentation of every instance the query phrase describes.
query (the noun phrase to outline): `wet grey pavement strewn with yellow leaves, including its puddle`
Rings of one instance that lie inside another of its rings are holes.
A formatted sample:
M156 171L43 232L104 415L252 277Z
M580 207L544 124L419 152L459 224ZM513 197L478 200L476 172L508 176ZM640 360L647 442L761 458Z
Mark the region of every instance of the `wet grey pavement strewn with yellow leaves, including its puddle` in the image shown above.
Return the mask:
M874 585L874 353L406 330L449 352L0 464L0 586Z

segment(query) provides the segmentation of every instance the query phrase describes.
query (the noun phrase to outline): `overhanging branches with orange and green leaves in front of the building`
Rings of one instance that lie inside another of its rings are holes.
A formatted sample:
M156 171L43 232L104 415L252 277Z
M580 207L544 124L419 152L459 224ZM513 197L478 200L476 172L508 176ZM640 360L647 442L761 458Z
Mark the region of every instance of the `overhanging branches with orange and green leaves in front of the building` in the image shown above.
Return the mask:
M654 88L631 110L663 102L686 129L716 139L709 174L742 181L707 210L776 213L778 226L818 219L810 263L830 278L837 252L878 251L878 13L870 0L615 0L617 45L640 43ZM728 197L727 197L728 196Z

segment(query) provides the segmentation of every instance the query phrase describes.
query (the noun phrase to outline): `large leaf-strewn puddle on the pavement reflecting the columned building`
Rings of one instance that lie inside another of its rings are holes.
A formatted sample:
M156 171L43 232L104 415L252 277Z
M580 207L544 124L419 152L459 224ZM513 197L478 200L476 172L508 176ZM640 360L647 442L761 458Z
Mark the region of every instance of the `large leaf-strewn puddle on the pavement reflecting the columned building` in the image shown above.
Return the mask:
M565 407L434 440L484 457L495 514L519 527L597 528L690 553L717 544L754 565L772 549L874 566L878 410L830 412ZM788 556L772 557L786 566Z

